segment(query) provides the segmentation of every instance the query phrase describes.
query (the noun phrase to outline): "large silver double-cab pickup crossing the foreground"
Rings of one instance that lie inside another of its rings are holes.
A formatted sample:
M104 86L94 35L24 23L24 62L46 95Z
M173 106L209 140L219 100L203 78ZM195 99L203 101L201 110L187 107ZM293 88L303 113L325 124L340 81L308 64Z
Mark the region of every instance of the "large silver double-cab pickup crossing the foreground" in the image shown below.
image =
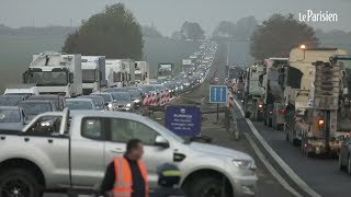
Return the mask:
M189 196L254 195L254 161L242 152L184 141L136 114L68 109L41 114L22 131L0 130L0 194L92 190L132 138L145 143L151 188L157 186L157 166L174 163Z

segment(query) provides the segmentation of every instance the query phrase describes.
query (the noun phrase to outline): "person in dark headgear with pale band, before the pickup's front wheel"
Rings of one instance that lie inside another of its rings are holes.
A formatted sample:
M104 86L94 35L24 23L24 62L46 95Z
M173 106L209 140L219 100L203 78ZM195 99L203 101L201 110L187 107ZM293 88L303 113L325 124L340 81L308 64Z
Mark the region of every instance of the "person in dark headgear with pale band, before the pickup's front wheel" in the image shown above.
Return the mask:
M150 197L185 197L185 193L176 187L180 182L181 172L174 164L165 163L158 166L157 174L160 187L150 193Z

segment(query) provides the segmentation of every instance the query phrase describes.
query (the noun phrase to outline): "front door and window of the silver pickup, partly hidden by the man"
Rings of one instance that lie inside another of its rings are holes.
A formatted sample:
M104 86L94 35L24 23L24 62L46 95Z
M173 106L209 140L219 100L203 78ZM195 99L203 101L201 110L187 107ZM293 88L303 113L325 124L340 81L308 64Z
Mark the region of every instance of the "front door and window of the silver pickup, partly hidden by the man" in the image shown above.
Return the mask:
M144 142L144 157L148 170L149 184L157 185L157 167L163 163L173 162L173 152L170 148L161 148L155 144L160 134L146 123L127 118L110 118L110 129L105 142L105 165L112 162L114 157L122 157L126 150L126 143L131 139L139 139Z

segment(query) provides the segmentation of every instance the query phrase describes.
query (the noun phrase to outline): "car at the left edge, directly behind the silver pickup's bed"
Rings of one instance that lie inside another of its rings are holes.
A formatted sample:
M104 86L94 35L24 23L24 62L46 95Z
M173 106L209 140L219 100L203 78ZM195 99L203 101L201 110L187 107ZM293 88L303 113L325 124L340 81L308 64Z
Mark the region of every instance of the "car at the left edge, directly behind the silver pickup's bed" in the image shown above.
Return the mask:
M0 129L21 130L26 121L26 115L21 107L0 106Z

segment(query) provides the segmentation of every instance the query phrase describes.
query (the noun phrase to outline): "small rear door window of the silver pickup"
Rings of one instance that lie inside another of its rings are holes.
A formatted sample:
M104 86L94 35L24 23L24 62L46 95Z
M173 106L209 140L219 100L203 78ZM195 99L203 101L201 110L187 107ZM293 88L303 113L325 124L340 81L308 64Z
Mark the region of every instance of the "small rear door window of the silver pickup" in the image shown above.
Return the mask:
M81 125L81 136L94 140L103 140L103 118L89 117L83 118Z

